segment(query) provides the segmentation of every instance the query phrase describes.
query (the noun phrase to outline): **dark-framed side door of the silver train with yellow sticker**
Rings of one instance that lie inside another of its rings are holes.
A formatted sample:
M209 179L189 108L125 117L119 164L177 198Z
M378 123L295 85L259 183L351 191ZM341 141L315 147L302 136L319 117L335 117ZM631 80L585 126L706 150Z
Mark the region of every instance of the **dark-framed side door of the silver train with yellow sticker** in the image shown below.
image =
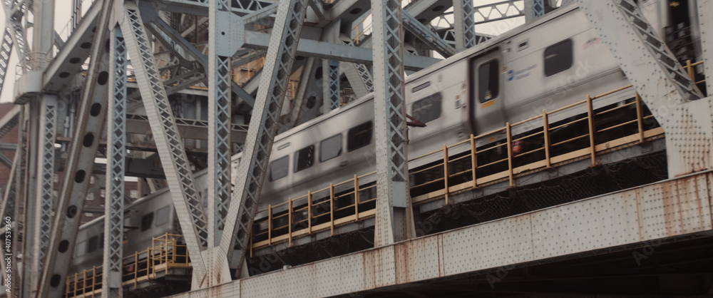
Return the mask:
M473 135L481 135L505 125L503 101L502 53L495 51L471 60L471 125ZM493 135L496 139L500 139ZM489 138L489 142L493 140Z

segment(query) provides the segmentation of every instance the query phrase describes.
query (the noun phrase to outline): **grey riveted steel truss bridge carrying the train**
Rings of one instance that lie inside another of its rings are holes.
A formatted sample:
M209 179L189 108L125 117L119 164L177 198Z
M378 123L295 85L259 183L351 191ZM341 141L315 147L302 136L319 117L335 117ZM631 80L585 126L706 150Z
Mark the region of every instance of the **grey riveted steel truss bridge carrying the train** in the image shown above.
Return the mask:
M536 21L556 11L550 1L73 0L58 31L55 1L4 0L0 88L11 53L19 57L14 106L0 118L0 138L18 131L2 143L13 158L0 154L9 296L121 297L177 276L190 291L176 297L671 293L650 276L677 293L711 294L713 98L696 84L713 90L704 79L713 77L713 1L688 1L699 59L686 65L635 1L563 2L585 12L632 86L565 107L587 111L573 120L588 123L576 136L584 146L558 150L573 140L549 133L568 123L548 120L561 110L543 111L492 132L506 135L507 158L479 164L475 144L490 133L404 158L404 73L492 37L476 24ZM631 88L637 112L595 127L616 113L596 99ZM376 171L258 210L275 134L372 92L384 144ZM539 133L513 135L518 125ZM625 126L629 134L596 138ZM542 145L513 153L525 138ZM436 160L423 170L440 175L409 184L419 158ZM195 183L199 169L208 185ZM632 173L651 175L622 183ZM606 184L607 175L621 179ZM123 251L128 176L152 192L165 180L183 235ZM94 179L106 189L103 210L85 207ZM527 202L497 205L503 197ZM105 215L103 264L70 272L84 212ZM308 253L320 245L352 248ZM578 282L590 279L611 292ZM546 282L563 290L533 285Z

